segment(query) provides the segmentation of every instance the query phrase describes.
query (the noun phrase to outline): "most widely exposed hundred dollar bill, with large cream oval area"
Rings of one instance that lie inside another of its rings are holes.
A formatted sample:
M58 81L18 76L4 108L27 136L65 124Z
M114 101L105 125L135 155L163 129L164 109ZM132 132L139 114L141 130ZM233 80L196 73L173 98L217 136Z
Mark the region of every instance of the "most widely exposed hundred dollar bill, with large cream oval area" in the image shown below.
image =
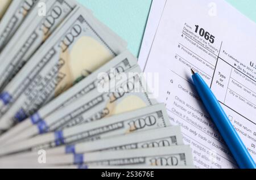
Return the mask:
M0 129L34 114L125 50L94 22L88 11L76 7L33 55L0 96Z

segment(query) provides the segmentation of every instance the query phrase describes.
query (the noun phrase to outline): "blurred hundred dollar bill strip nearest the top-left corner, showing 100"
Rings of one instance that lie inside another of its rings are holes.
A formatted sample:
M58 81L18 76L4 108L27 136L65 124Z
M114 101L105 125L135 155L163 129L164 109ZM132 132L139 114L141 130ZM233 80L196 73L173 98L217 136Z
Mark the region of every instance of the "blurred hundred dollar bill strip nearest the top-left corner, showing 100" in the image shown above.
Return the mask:
M12 1L0 23L0 50L9 42L39 0ZM1 5L0 5L1 6Z

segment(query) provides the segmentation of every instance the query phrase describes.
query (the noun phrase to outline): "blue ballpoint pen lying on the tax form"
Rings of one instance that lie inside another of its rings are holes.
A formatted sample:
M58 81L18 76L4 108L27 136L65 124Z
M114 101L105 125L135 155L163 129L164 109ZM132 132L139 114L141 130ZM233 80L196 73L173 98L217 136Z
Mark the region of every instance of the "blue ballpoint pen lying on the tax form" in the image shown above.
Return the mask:
M243 144L240 136L229 121L228 116L222 109L217 98L213 95L208 85L204 82L203 78L192 69L192 79L196 87L197 93L201 97L205 108L207 109L214 124L217 126L222 138L229 147L234 159L237 161L241 169L256 169L255 162L245 145Z

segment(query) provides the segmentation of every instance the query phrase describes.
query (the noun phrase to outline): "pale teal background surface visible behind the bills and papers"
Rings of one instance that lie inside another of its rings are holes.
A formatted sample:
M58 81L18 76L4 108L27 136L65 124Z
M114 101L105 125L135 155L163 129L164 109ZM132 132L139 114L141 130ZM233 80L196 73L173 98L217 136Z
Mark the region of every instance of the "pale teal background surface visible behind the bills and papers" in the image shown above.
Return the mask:
M128 42L138 56L151 0L78 0L93 14ZM157 1L157 0L156 0ZM256 0L226 0L256 22Z

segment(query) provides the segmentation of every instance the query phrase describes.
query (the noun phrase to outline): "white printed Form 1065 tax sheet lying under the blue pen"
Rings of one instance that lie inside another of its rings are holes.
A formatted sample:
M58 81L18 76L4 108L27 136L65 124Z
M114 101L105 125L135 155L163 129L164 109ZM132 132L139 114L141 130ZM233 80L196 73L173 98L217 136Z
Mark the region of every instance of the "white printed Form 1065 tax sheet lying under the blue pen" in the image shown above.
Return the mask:
M237 168L191 78L204 78L256 160L256 25L222 0L167 0L145 72L159 73L160 102L197 168Z

